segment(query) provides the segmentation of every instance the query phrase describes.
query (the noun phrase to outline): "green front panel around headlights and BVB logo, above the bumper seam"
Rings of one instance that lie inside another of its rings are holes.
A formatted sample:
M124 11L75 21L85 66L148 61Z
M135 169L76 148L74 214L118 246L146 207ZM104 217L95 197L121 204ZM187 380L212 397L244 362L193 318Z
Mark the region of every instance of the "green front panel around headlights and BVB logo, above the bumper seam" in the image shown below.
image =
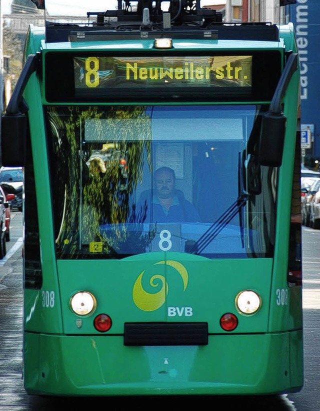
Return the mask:
M140 254L109 261L58 260L57 278L52 276L57 279L55 286L53 281L44 280L41 290L25 290L26 330L98 333L93 327L93 318L103 312L113 320L110 333L122 334L125 321L177 320L205 321L208 322L209 333L221 333L219 319L225 312L236 313L235 298L243 289L257 291L262 298L262 306L255 315L239 315L236 333L278 332L301 327L301 318L295 311L301 294L295 288L283 285L282 293L288 297L286 301L279 302L279 291L271 287L272 259L210 260L183 253L164 254ZM172 261L179 262L186 270L184 289L181 273L171 265ZM141 273L142 288L152 295L148 309L143 305L143 294L136 298L133 295ZM159 278L152 281L155 274ZM164 301L158 302L157 297L163 289L167 295ZM82 326L78 328L76 319L79 317L70 310L69 300L75 291L81 290L92 292L98 304L95 313L82 318ZM45 302L45 298L49 298L49 302ZM168 307L178 307L181 315L177 312L168 315ZM181 310L181 307L190 307L191 310ZM281 318L276 324L269 323L271 307L275 316Z

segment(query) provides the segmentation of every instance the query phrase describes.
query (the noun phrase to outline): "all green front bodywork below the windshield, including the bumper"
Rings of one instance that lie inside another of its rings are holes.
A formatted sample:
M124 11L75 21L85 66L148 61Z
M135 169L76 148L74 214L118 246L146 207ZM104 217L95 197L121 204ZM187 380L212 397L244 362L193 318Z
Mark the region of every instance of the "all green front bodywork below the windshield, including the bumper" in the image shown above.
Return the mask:
M300 288L286 288L288 300L282 305L271 288L271 259L212 261L168 253L168 263L183 257L188 273L183 291L175 268L155 265L165 258L164 253L157 254L107 263L58 261L59 288L49 290L56 295L53 307L42 306L43 287L38 292L26 290L30 299L25 301L24 384L29 393L274 394L302 386ZM133 285L141 272L148 292L156 294L163 286L160 281L153 287L156 291L150 290L155 273L162 274L167 284L165 302L152 311L141 310L133 300ZM261 309L255 315L238 314L236 330L223 331L219 318L224 312L237 313L235 296L244 288L259 292ZM91 291L99 302L78 327L79 316L68 301L81 289ZM168 316L170 306L176 309L174 316ZM276 326L269 321L272 306L280 319ZM93 327L93 318L100 312L113 321L104 335ZM124 321L207 321L208 345L124 346ZM57 324L62 327L57 329Z

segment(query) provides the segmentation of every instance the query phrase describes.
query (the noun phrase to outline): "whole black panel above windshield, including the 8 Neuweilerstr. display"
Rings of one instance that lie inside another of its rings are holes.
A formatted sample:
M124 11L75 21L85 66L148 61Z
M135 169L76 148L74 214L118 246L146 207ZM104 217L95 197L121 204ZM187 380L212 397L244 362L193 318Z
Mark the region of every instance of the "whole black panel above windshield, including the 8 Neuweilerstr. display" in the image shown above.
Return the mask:
M45 99L263 102L271 100L281 67L279 50L46 51Z

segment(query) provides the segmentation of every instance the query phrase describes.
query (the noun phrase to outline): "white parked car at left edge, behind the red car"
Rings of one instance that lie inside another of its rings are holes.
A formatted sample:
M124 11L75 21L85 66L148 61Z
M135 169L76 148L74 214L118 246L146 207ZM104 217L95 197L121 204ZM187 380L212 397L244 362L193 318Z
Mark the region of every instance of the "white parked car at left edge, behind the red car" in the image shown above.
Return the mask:
M10 200L11 209L22 211L23 169L22 167L1 167L0 185L5 195L14 194Z

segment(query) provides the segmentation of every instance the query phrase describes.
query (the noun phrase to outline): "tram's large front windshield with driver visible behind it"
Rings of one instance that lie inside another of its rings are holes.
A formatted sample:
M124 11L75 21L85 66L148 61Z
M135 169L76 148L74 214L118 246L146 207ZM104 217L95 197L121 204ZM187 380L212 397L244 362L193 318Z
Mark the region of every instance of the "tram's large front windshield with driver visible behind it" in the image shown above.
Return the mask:
M264 109L47 106L57 257L271 256L276 169L251 147Z

